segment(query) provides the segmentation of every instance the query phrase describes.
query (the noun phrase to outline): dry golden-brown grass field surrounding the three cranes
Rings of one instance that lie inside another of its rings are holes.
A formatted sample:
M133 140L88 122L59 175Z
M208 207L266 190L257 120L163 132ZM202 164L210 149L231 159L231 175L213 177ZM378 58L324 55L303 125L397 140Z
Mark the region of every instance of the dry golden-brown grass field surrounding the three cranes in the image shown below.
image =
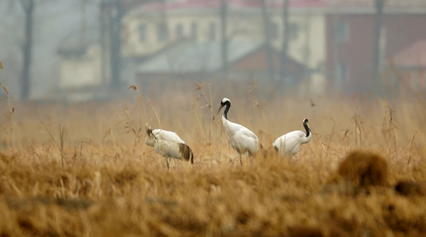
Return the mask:
M1 101L0 236L426 235L422 100L312 104L200 88L153 101L132 89L114 103L12 100L11 116ZM264 147L303 131L305 117L313 138L293 160L244 158L241 166L216 116L222 97L232 102L229 120ZM144 143L145 123L178 133L194 165L173 160L167 170ZM378 155L345 160L353 150Z

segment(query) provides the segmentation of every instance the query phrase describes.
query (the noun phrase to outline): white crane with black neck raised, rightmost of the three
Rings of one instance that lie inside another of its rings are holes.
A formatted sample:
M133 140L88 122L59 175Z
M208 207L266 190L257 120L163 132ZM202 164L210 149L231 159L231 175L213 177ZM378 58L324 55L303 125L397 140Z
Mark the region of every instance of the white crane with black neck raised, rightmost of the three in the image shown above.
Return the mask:
M308 143L312 138L312 133L309 127L309 120L303 118L303 127L306 134L302 131L292 131L280 136L272 143L275 150L278 150L280 155L295 155L300 150L300 145Z

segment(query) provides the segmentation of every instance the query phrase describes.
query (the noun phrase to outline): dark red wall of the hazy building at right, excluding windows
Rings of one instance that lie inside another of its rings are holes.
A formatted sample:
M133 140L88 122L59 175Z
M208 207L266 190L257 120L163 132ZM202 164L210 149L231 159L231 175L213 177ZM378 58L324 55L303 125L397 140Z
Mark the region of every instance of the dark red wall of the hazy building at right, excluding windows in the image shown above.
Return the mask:
M338 47L339 61L346 65L349 77L346 82L334 83L350 91L365 91L373 74L374 14L345 13L339 15L339 21L349 28L349 38L334 43L334 16L327 15L327 75L334 79L334 50ZM386 13L383 16L383 62L416 40L425 39L426 31L421 30L425 22L426 14Z

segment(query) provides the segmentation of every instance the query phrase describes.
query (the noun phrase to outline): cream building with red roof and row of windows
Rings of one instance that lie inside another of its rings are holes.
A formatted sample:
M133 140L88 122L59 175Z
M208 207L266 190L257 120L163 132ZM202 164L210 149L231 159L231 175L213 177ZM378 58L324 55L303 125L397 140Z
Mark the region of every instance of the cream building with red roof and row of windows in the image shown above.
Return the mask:
M226 36L232 40L264 40L261 1L229 0ZM271 43L283 41L281 1L268 1ZM150 57L176 40L219 42L220 0L188 0L146 4L125 16L124 57ZM326 60L322 0L290 0L289 56L310 70L324 68Z

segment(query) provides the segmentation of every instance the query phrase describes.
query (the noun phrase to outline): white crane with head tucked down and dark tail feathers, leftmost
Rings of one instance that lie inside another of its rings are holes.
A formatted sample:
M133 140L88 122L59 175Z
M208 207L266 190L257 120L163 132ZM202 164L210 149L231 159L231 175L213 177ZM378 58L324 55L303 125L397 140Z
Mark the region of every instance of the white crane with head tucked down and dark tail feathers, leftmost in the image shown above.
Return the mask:
M158 131L157 135L152 131L148 123L145 124L146 129L146 145L154 147L155 152L159 155L163 155L165 161L167 162L167 168L169 168L168 158L175 158L178 160L187 160L190 161L191 165L194 164L194 154L192 153L191 148L185 144L185 141L180 139L178 134L164 131L161 129L155 129ZM167 132L167 133L164 133ZM164 139L161 139L164 138ZM151 145L152 144L152 145Z

